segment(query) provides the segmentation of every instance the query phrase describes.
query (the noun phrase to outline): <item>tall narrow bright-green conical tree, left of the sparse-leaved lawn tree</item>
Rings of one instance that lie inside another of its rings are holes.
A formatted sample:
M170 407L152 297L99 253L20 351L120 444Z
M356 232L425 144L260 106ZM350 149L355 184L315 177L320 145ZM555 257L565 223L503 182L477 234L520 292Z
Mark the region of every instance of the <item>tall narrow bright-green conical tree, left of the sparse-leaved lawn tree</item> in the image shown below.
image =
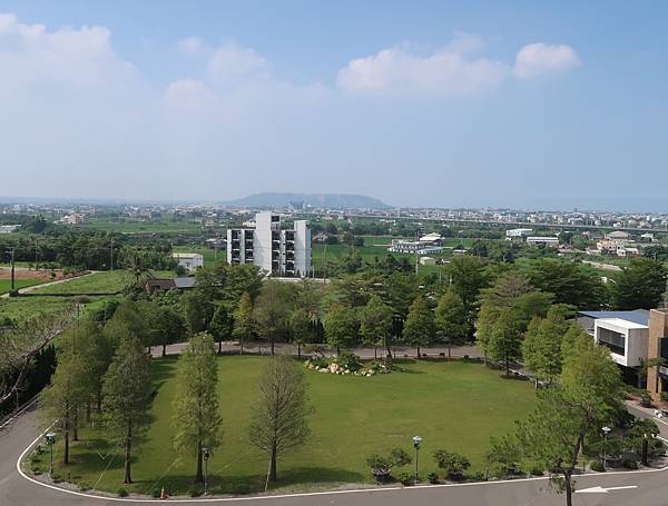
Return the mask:
M223 417L218 404L218 367L214 339L206 333L193 336L178 359L173 401L174 447L196 459L195 482L203 483L202 447L222 441Z

